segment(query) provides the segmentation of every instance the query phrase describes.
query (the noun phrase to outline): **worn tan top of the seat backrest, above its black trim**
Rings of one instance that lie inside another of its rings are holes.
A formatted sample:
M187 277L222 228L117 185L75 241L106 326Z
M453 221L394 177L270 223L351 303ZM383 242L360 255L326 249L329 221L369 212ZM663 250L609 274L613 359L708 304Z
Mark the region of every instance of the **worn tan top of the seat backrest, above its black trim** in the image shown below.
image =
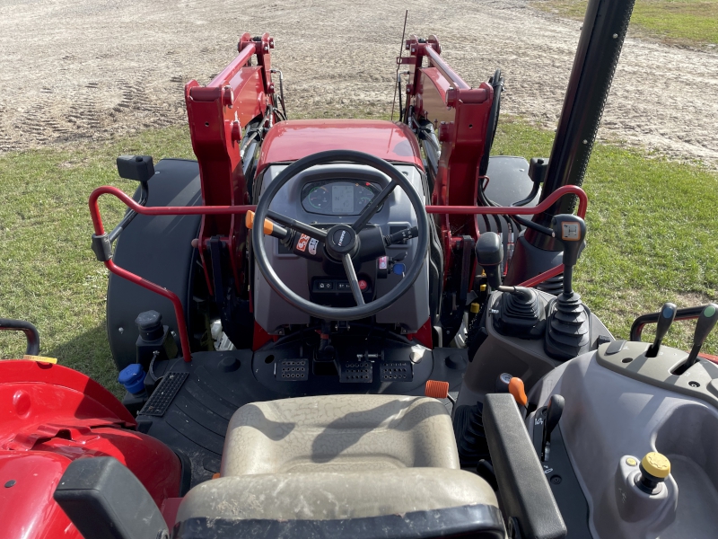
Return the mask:
M461 470L269 473L200 483L182 500L177 522L344 520L467 506L486 506L498 514L494 490L477 475Z

